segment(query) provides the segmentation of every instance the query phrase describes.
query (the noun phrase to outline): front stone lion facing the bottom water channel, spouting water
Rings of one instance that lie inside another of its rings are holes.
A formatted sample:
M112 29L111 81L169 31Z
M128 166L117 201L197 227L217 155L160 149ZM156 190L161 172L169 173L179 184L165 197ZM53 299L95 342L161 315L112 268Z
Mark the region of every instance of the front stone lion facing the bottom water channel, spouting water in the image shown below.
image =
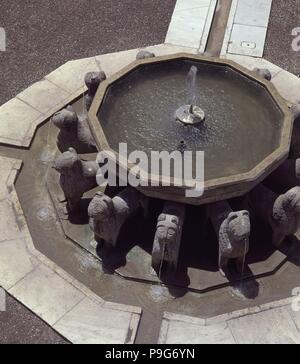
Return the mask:
M152 267L159 272L162 264L176 271L181 243L185 206L175 202L165 202L158 216L152 249Z

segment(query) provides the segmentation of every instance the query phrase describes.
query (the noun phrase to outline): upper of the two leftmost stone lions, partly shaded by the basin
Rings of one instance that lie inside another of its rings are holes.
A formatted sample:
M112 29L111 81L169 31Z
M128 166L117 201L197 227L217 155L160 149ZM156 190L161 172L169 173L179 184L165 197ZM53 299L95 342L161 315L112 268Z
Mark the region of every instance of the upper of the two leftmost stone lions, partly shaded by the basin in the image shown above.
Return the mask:
M72 106L58 111L52 117L53 124L59 129L57 147L64 153L75 148L78 153L97 152L86 116L78 116Z

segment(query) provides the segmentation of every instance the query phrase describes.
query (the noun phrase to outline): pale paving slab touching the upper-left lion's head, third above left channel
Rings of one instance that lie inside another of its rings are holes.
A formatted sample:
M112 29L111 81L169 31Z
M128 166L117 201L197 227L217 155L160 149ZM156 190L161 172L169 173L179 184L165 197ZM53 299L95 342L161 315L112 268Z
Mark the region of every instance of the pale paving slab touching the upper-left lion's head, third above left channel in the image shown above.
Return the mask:
M98 71L95 57L70 61L57 68L45 78L67 92L85 90L84 76L87 72Z

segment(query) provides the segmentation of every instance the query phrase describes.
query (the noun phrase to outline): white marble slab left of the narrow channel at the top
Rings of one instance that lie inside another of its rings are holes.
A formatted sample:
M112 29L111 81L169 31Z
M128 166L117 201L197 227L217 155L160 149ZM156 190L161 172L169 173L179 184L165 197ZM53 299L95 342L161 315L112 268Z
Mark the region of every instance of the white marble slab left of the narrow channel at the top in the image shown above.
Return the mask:
M177 0L165 43L205 48L216 0Z

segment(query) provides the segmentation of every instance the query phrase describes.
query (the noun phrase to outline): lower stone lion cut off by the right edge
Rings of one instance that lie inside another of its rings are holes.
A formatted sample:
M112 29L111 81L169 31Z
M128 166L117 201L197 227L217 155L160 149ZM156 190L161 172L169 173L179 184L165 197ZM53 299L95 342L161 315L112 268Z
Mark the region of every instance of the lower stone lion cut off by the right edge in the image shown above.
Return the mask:
M285 237L294 235L300 227L300 187L277 195L259 185L250 192L253 211L272 228L272 243L279 247Z

